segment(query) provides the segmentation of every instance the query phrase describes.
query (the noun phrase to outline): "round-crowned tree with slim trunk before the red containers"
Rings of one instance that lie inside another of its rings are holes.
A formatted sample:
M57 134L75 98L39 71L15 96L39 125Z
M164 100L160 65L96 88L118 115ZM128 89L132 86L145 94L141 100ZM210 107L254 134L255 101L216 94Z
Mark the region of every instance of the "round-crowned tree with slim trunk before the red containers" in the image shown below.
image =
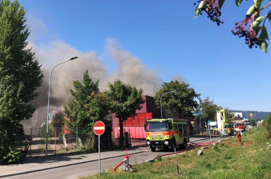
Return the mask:
M135 111L141 109L144 103L141 95L142 89L136 89L130 85L126 85L120 80L108 84L109 89L105 91L108 96L109 109L115 117L119 119L120 135L119 146L123 147L123 121L131 116L135 116Z

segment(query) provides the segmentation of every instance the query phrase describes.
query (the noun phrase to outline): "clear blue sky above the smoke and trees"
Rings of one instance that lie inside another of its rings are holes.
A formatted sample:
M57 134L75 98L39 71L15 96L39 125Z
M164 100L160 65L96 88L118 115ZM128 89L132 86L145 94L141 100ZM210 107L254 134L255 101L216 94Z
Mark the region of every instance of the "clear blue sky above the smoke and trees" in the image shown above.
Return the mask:
M114 38L164 82L180 75L202 98L209 96L223 107L271 111L271 54L248 49L244 39L230 32L244 19L250 1L238 8L227 0L220 27L205 15L194 19L192 0L20 3L29 21L40 21L29 23L35 44L61 40L78 51L103 56L106 39ZM270 30L270 22L266 24ZM109 72L116 67L110 57L104 63Z

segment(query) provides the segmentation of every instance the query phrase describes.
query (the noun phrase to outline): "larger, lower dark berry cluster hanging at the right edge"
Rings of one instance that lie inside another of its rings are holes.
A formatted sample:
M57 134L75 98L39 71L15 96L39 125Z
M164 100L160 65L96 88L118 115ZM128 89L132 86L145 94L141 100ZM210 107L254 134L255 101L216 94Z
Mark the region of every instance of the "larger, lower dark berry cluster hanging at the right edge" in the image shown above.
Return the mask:
M249 21L252 21L252 19ZM246 28L246 24L249 24L248 28ZM239 38L245 37L245 44L247 44L249 48L252 48L253 46L257 48L257 45L262 43L262 39L257 37L255 30L253 30L250 24L251 23L247 23L247 21L236 23L234 29L231 30L231 32L234 35L239 36Z

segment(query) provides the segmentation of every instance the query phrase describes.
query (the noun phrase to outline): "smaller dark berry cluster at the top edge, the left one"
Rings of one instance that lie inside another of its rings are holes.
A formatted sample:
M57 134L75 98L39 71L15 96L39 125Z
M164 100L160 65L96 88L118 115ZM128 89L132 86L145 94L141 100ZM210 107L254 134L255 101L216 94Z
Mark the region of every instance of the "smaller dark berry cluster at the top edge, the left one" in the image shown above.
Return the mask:
M203 0L198 0L198 2ZM202 11L205 11L207 13L207 17L217 23L217 26L220 24L223 24L223 21L220 20L221 11L219 8L219 0L204 0L202 7L200 7L198 10L201 12L200 15L202 15ZM195 5L196 3L194 3Z

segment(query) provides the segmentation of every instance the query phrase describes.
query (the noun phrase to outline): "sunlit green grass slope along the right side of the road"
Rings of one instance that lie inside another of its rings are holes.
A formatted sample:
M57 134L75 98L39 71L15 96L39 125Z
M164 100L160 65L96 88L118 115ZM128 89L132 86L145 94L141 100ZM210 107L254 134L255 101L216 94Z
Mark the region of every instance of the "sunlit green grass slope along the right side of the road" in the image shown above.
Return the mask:
M266 129L257 126L245 133L240 145L235 136L205 149L204 155L197 155L197 150L178 155L179 176L175 158L167 157L134 165L133 173L119 169L117 174L108 171L83 179L271 179L271 147L266 144L271 139L266 138Z

